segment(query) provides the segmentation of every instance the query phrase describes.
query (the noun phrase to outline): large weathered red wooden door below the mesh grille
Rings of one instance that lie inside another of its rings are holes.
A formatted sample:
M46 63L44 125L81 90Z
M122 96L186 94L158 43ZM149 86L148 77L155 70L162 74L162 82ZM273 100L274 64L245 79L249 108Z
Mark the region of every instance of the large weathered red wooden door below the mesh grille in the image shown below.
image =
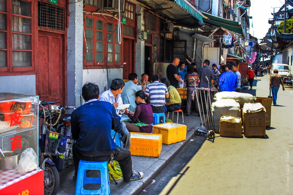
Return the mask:
M42 101L64 104L63 35L39 31L36 92Z

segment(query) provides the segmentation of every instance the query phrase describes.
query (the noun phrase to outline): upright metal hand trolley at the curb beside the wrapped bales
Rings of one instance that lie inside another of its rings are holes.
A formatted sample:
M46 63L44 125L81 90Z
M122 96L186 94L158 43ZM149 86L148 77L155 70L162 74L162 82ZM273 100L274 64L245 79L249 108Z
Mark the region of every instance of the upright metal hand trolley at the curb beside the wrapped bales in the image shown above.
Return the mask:
M206 79L207 79L207 77L206 77ZM193 80L195 82L194 78L193 78ZM208 80L208 83L209 83L209 80ZM194 86L196 86L196 85L194 84ZM197 91L198 91L198 93L197 93ZM197 95L197 94L199 94L199 95ZM200 135L201 133L206 134L207 139L214 139L215 132L213 129L214 122L213 122L212 111L211 111L212 110L211 109L212 103L211 103L211 97L210 97L210 89L196 87L193 91L193 94L192 94L193 100L194 100L194 96L195 96L198 108L200 108L200 107L202 108L202 113L201 113L200 109L198 109L201 123L200 123L200 127L195 129L195 134L196 135ZM202 115L203 115L204 122L202 121Z

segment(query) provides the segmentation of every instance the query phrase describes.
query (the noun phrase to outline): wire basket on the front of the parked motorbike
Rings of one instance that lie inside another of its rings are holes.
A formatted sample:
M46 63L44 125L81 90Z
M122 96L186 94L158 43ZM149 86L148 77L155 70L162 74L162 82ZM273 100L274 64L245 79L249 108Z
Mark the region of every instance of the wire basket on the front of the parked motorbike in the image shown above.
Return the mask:
M56 132L47 131L45 141L45 152L67 158L75 140Z

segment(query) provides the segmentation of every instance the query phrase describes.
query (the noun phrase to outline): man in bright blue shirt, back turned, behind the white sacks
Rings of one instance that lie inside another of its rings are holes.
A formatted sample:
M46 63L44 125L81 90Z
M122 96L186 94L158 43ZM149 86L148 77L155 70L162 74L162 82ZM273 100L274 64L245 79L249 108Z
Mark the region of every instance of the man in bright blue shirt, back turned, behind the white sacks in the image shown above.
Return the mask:
M219 77L219 87L222 92L235 92L237 86L237 76L232 72L232 64L226 63L226 72Z

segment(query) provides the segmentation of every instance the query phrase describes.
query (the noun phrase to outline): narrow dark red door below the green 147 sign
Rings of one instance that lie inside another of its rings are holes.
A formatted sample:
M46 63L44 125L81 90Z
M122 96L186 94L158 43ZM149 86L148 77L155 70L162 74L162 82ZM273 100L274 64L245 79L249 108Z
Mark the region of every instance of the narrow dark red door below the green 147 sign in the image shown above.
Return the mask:
M132 45L132 39L123 39L123 79L128 79L128 75L133 73Z

